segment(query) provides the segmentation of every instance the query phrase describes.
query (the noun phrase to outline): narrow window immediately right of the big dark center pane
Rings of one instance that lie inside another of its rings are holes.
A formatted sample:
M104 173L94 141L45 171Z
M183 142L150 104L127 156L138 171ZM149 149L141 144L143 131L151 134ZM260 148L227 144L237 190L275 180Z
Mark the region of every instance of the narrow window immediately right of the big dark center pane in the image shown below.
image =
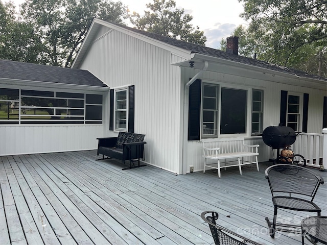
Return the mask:
M263 132L263 95L263 90L252 89L252 135Z

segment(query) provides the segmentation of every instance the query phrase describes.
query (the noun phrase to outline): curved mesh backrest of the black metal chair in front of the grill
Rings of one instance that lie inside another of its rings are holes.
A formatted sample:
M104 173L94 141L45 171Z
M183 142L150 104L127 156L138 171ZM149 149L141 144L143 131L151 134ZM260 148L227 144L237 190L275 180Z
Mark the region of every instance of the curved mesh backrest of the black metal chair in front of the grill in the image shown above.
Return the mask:
M289 164L276 164L265 171L272 195L275 192L300 194L314 199L323 179L313 171Z

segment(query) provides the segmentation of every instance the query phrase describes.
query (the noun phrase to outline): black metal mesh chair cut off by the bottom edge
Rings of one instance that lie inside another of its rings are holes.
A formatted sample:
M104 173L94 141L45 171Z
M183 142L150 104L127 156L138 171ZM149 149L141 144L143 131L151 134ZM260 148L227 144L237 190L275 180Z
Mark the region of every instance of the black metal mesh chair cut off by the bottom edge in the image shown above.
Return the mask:
M207 214L211 213L212 216ZM216 220L218 219L218 213L214 211L205 211L201 213L202 219L209 224L209 228L213 235L214 241L216 245L260 245L255 241L251 241L248 238L245 238L233 231L230 231L226 228L218 226L216 224Z

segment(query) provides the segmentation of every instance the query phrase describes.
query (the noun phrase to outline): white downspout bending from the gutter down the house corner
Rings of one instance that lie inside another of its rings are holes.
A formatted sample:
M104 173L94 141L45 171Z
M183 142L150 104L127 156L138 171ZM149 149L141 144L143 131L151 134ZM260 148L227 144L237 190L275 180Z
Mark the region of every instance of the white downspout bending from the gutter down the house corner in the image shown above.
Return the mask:
M192 83L194 83L195 80L197 80L204 71L208 68L208 62L204 61L204 66L201 70L198 71L198 73L191 78L191 80L184 85L184 119L183 119L183 145L182 145L182 174L186 175L187 166L186 166L186 160L188 157L188 125L189 125L189 90Z

